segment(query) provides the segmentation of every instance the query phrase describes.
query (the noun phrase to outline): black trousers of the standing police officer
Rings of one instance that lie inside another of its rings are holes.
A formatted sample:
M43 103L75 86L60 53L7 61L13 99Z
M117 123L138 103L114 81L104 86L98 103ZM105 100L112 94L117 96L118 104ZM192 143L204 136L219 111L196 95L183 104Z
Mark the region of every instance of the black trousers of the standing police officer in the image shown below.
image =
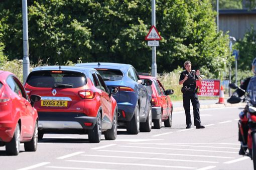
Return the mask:
M191 115L190 115L190 100L193 105L193 114L194 114L194 125L198 126L201 125L200 115L199 115L199 108L200 103L198 100L198 96L196 92L186 91L183 93L183 107L185 109L186 114L186 124L191 125Z

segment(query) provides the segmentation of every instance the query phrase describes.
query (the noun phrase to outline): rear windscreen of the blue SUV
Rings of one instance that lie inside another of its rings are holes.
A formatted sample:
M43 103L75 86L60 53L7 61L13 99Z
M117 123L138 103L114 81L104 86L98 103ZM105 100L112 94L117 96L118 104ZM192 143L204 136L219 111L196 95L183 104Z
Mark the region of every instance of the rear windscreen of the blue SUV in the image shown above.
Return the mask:
M100 75L105 81L121 80L123 77L122 71L120 71L119 69L96 69L99 71Z

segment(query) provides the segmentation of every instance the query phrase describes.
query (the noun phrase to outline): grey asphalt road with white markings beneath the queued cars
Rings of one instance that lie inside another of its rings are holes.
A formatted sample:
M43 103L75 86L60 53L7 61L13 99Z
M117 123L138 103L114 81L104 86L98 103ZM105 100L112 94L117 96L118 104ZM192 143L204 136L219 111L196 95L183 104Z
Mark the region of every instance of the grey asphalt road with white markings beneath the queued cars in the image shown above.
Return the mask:
M89 143L87 135L46 134L36 152L7 156L0 147L0 169L253 169L238 155L238 113L243 107L201 109L205 129L186 129L185 113L173 113L173 126Z

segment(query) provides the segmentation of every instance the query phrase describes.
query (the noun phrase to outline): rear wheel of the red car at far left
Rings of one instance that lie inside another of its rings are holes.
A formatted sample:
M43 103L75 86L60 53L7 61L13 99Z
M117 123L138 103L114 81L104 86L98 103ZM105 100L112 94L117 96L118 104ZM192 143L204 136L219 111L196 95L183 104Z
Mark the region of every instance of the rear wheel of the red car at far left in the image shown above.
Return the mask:
M17 123L12 140L6 143L7 155L18 155L20 152L20 142L20 125Z

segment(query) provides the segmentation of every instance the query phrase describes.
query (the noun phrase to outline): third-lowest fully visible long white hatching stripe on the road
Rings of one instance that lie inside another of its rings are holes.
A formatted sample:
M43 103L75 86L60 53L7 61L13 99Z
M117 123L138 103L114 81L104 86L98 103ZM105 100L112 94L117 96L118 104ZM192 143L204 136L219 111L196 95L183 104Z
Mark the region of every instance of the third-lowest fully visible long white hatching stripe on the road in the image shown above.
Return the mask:
M142 154L160 154L160 155L179 155L179 156L194 156L194 157L214 157L214 158L235 158L227 156L209 156L209 155L197 155L197 154L178 154L178 153L157 153L157 152L143 152L143 151L121 151L121 150L98 150L107 152L121 152L121 153L142 153Z

